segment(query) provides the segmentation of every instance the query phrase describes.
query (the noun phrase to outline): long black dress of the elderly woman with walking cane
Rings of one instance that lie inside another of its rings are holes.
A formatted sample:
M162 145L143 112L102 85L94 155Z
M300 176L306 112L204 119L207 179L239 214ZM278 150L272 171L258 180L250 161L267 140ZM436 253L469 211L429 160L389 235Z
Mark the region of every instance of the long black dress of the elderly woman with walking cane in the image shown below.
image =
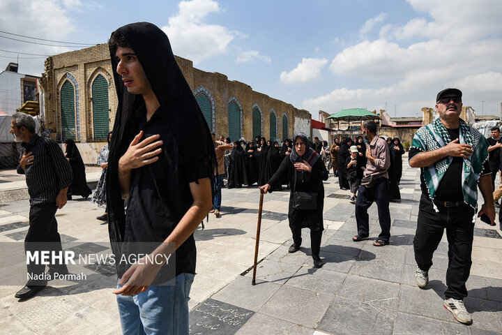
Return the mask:
M296 173L296 184L295 184ZM312 165L312 172L301 172L294 168L291 159L284 158L279 170L271 177L267 184L273 185L283 176L287 175L291 185L289 193L288 219L289 228L293 233L294 243L301 246L301 228L310 228L312 255L319 255L321 236L324 230L324 184L328 180L328 171L321 158ZM317 209L294 209L293 191L317 192Z

